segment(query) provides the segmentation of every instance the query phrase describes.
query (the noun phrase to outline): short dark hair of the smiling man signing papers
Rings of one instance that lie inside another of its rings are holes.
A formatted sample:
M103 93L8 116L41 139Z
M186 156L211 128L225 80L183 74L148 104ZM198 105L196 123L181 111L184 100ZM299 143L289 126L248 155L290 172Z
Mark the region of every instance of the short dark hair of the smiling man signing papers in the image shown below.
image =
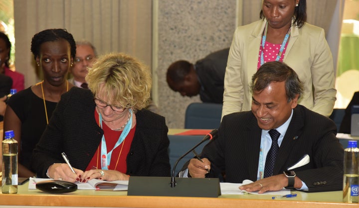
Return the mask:
M252 77L250 86L251 92L261 92L272 82L285 81L286 95L288 103L293 100L296 95L301 97L303 93L303 84L299 80L297 73L287 64L272 61L264 63Z

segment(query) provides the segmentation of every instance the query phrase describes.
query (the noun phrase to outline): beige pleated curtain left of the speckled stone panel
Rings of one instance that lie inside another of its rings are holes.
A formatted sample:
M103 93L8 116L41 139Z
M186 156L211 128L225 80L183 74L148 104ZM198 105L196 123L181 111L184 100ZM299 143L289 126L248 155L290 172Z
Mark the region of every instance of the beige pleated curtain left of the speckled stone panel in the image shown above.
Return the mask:
M14 0L16 70L25 87L35 74L32 36L48 28L66 28L75 40L86 39L98 54L125 52L151 66L151 0Z

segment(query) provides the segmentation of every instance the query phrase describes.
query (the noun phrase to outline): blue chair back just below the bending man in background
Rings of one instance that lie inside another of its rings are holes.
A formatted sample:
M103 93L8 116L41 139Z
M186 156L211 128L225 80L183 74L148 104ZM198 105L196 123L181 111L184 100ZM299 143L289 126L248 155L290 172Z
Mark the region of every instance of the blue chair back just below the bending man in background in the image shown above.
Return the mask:
M218 128L222 116L222 104L191 103L187 106L184 128L214 129Z

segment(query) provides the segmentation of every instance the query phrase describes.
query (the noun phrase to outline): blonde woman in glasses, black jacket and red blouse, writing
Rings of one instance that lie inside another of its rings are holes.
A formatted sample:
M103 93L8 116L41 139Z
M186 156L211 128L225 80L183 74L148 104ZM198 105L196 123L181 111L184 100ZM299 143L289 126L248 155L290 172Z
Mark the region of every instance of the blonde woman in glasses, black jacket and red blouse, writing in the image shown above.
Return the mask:
M90 90L73 88L57 105L34 150L37 176L69 182L170 176L165 118L144 108L151 92L149 69L112 53L99 57L86 81Z

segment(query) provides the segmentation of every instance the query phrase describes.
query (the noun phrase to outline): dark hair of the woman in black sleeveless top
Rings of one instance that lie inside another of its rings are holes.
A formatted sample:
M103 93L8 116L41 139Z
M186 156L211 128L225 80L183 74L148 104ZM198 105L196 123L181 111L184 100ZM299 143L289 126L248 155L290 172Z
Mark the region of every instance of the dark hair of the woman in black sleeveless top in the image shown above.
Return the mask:
M76 43L71 33L66 29L45 29L39 33L36 33L31 40L31 52L34 55L34 59L40 56L40 45L44 42L55 41L59 39L65 39L70 44L71 57L75 59L76 55Z

